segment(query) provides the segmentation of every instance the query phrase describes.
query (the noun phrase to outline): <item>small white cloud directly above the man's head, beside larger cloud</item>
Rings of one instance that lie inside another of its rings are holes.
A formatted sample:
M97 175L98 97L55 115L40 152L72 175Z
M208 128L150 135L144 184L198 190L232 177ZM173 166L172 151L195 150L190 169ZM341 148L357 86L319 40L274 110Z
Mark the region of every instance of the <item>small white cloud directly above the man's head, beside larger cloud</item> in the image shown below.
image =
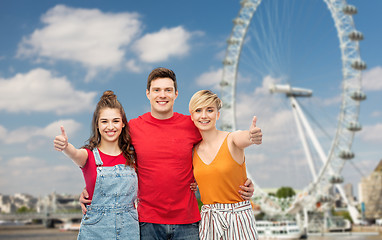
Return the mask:
M165 61L170 57L182 57L190 50L189 39L192 34L183 27L163 28L149 33L134 43L140 60L147 63Z

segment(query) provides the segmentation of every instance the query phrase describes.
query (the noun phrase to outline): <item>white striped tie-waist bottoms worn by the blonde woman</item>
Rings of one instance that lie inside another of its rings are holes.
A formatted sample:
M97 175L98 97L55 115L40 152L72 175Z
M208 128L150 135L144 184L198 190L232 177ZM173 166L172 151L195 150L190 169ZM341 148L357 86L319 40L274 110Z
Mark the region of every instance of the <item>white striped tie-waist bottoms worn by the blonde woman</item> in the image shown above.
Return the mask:
M201 240L257 240L255 216L249 201L206 204L201 209Z

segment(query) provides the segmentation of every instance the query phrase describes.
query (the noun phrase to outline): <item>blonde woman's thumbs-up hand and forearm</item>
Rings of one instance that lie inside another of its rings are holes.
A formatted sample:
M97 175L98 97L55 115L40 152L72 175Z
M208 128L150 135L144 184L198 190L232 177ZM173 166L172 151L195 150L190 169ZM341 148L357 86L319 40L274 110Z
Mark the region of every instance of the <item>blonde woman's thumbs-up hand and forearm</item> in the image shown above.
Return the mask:
M261 144L263 140L263 133L261 129L256 126L257 117L254 116L249 130L235 131L231 133L232 142L240 149L244 149L252 144Z

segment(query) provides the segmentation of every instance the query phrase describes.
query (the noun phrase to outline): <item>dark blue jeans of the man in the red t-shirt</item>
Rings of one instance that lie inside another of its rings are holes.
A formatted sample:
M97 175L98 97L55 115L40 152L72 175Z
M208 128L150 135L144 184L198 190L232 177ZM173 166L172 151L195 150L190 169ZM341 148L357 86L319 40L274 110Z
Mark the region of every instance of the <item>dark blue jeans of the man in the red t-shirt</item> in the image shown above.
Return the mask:
M197 240L199 223L192 224L155 224L139 223L141 240Z

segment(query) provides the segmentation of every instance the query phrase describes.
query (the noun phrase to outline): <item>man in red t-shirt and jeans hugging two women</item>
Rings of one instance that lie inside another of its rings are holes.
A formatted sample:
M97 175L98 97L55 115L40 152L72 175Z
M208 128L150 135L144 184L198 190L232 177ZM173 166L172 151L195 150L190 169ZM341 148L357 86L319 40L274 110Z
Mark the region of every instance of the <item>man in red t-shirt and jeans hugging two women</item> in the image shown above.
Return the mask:
M192 148L201 135L190 116L174 112L178 89L172 70L154 69L146 95L151 111L129 122L137 153L141 239L199 239L200 213L190 184L194 182ZM245 186L250 184L247 181ZM245 186L240 193L248 200L253 185ZM89 203L84 194L82 207Z

